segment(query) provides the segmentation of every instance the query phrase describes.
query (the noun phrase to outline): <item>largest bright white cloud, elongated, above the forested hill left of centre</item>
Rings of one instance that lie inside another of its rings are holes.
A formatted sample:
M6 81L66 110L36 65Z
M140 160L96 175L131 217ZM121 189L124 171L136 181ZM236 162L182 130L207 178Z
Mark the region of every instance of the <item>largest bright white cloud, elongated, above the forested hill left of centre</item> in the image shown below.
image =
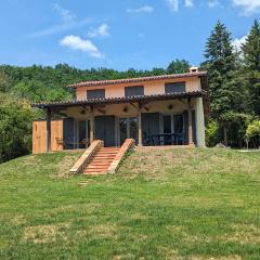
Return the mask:
M90 56L98 58L102 57L99 49L90 40L81 39L79 36L66 36L60 41L60 43L73 50L87 52Z

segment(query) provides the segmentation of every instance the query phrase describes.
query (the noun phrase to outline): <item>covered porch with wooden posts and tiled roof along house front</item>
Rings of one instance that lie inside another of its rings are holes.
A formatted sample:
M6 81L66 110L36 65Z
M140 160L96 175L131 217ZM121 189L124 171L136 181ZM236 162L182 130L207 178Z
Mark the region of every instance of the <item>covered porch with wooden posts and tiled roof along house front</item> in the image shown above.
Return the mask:
M86 148L94 140L120 146L134 139L139 146L205 146L205 92L98 99L35 104L47 110L47 151L52 151L52 118L63 117L63 150Z

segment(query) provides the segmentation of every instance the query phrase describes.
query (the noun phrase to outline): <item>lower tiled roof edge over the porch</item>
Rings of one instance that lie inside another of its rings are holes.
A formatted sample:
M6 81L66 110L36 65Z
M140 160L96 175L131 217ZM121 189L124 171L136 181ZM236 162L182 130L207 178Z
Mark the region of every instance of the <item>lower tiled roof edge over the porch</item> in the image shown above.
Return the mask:
M205 96L206 91L190 91L190 92L176 92L168 94L153 94L153 95L134 95L128 98L109 98L109 99L88 99L88 100L72 100L72 101L57 101L57 102L41 102L31 104L32 107L39 108L51 108L51 107L72 107L81 105L93 105L93 104L119 104L127 102L142 102L142 101L164 101L164 100L176 100L176 99L188 99Z

